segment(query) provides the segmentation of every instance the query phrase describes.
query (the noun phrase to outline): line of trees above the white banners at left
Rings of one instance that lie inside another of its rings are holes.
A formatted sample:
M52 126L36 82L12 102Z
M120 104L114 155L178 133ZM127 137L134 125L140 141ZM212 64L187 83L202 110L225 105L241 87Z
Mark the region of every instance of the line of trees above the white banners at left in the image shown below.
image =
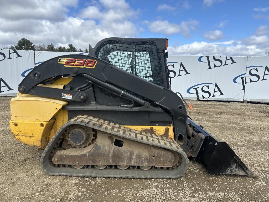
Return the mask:
M83 52L83 53L88 53L87 48L85 50L82 50L77 48L73 44L68 44L68 47L62 47L58 46L55 47L54 44L50 43L48 45L46 44L37 44L33 45L33 43L25 38L22 38L21 40L18 41L17 45L15 46L6 46L6 45L1 45L1 49L12 49L12 50L37 50L37 51L55 51L55 52Z

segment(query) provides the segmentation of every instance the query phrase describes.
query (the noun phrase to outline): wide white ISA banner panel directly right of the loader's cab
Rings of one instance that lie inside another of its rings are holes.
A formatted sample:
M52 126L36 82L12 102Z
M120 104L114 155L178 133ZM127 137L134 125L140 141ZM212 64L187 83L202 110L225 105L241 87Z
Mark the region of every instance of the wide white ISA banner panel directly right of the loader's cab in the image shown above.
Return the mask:
M186 99L243 100L233 79L246 71L247 57L174 56L167 58L171 88Z

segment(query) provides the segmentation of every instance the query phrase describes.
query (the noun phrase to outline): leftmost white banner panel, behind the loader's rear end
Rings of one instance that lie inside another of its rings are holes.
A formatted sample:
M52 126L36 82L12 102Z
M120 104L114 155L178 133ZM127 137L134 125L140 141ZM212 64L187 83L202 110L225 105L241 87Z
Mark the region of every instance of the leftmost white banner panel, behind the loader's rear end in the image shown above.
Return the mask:
M34 68L34 51L0 49L0 96L17 95L23 72Z

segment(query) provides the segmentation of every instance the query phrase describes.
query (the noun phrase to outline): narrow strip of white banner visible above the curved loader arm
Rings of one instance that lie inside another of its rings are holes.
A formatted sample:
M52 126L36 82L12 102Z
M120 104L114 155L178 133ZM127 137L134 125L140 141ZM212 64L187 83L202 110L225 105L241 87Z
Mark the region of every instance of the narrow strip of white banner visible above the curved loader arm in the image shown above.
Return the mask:
M38 66L51 58L55 58L61 55L73 54L88 55L89 53L35 51L35 65Z

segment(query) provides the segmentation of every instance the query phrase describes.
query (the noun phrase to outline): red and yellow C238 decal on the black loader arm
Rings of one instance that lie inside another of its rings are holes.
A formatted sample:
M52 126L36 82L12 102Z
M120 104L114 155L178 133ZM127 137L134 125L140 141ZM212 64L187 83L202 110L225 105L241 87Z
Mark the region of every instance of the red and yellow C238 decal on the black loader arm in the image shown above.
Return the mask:
M85 59L75 59L75 58L59 58L59 64L63 64L65 67L86 67L94 68L97 61L96 60L85 60Z

